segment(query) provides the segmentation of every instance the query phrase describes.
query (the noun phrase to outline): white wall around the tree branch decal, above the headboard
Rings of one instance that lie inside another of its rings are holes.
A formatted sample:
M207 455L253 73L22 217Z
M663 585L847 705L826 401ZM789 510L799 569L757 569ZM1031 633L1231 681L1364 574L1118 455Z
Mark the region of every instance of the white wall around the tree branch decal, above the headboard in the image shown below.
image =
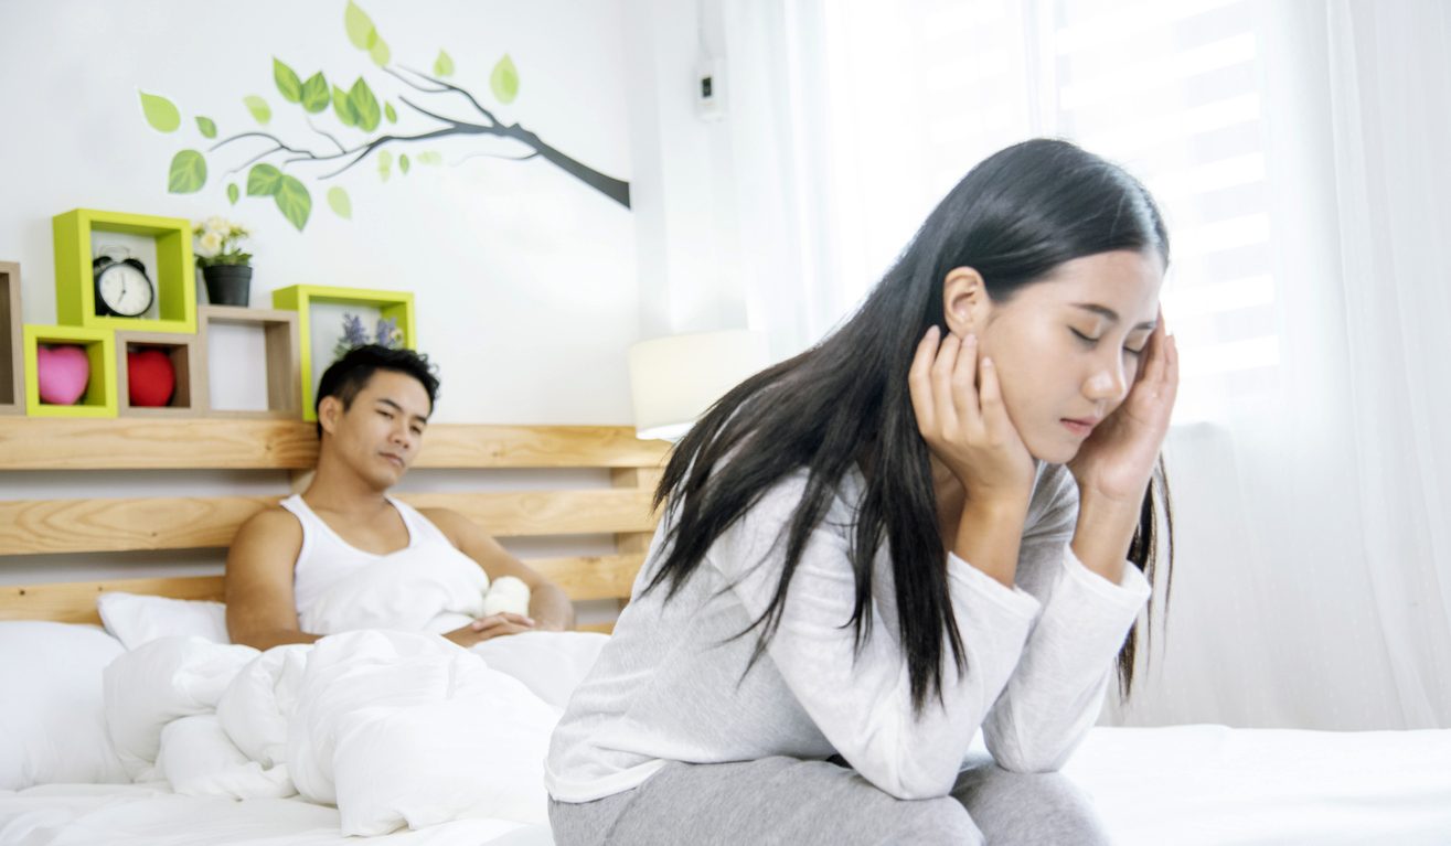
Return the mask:
M445 164L415 164L408 177L395 167L387 183L366 161L334 180L351 194L353 219L335 216L325 189L313 189L303 232L267 197L244 196L228 206L221 171L239 164L238 157L210 154L200 193L167 193L176 151L210 144L197 132L196 115L216 120L222 138L257 128L242 104L247 94L271 104L267 129L326 147L302 122L300 109L277 93L273 57L303 77L322 70L350 84L361 74L380 94L395 93L396 103L406 89L353 48L344 7L344 0L6 4L0 258L22 266L25 321L55 319L52 215L73 208L190 219L226 215L257 231L252 305L270 305L270 290L296 283L415 292L419 348L440 363L444 383L435 419L628 424L625 350L640 335L636 216L548 163L447 164L479 151L519 152L479 139L419 147L440 151ZM447 49L457 65L453 80L501 119L599 171L631 177L637 157L630 148L621 1L363 0L363 9L396 64L427 71L440 48ZM521 78L509 106L489 97L489 73L503 54ZM174 102L181 128L151 129L138 90ZM450 102L418 93L411 99ZM467 115L461 99L451 104L461 106L451 113ZM344 144L363 138L331 120L329 113L315 118ZM399 123L409 132L434 126L422 116ZM252 142L235 149L244 144ZM292 170L309 167L321 170ZM244 177L234 178L245 187Z

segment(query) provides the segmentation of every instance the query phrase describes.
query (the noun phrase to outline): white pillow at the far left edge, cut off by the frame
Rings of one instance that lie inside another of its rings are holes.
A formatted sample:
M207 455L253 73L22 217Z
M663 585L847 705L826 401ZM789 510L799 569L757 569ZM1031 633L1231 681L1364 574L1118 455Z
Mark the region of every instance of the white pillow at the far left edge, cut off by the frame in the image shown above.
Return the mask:
M123 652L99 625L0 623L0 789L129 781L102 695Z

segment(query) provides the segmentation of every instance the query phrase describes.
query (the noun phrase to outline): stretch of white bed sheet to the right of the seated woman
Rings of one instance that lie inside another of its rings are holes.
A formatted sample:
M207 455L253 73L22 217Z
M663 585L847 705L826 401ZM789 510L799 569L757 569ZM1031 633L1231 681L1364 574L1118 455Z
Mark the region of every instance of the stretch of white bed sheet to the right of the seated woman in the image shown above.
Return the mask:
M1120 846L1451 845L1451 730L1094 728L1064 772Z

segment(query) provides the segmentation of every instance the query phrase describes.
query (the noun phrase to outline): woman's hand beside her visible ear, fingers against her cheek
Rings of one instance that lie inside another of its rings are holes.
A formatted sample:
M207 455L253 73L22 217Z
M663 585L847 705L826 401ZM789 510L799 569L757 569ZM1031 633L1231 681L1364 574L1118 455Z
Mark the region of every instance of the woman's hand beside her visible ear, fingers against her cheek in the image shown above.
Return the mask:
M1035 466L1007 416L997 369L978 360L975 335L927 329L917 345L907 385L917 430L939 461L962 482L968 505L1026 506Z

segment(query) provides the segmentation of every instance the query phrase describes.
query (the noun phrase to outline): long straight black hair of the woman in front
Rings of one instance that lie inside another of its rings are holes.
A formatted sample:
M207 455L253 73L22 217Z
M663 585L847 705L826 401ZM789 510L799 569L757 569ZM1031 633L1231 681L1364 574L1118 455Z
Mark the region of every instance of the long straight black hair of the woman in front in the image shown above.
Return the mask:
M856 573L850 620L858 649L871 636L872 560L889 540L898 625L913 704L942 692L943 640L958 668L966 653L948 596L946 562L926 441L917 428L907 371L927 328L943 327L948 271L972 267L988 296L1006 302L1059 264L1113 250L1159 255L1168 234L1154 200L1117 165L1065 141L1033 139L985 160L927 216L911 244L860 309L805 353L752 376L721 398L672 454L654 505L667 502L669 537L646 591L667 583L667 598L705 551L785 476L807 469L807 488L785 533L785 566L759 628L752 662L781 623L791 576L807 538L826 515L833 490L853 461L872 469L849 547ZM730 460L723 460L730 456ZM1133 562L1154 580L1155 490L1162 460L1143 498ZM744 633L741 633L744 634ZM1119 654L1125 692L1133 679L1138 627Z

